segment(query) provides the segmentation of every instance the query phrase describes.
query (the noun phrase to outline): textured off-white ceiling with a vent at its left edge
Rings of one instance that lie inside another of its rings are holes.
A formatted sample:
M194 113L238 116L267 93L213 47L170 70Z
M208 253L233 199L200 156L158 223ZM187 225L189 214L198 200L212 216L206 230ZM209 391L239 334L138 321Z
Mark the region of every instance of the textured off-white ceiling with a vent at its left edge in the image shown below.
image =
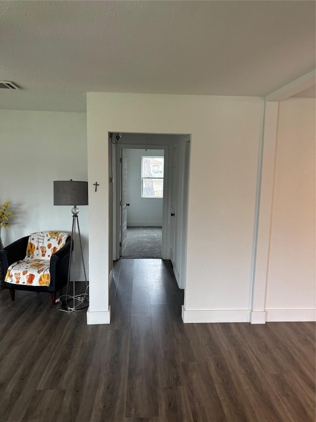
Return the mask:
M90 91L265 96L315 68L315 1L0 1L2 108Z

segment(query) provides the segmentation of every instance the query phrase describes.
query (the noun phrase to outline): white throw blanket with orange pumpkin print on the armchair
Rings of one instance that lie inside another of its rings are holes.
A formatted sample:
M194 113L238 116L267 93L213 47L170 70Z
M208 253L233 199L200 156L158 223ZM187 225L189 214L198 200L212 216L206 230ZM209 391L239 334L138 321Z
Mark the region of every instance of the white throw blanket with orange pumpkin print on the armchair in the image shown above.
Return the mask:
M5 276L8 283L49 286L50 257L65 246L69 233L37 232L29 237L26 257L10 265Z

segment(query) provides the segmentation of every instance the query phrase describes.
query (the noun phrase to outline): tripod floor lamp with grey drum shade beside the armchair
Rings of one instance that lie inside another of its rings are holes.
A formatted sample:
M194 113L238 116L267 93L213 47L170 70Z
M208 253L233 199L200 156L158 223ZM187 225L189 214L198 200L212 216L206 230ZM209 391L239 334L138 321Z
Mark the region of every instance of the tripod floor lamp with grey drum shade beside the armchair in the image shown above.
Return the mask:
M81 235L79 228L79 208L77 205L88 205L88 182L79 182L70 180L58 180L54 181L54 205L71 205L73 206L71 212L73 213L73 227L71 232L71 251L72 256L69 259L68 268L68 279L67 279L67 290L66 295L61 296L61 310L66 312L73 311L84 311L89 307L89 294L88 294L88 282L84 267L83 252ZM75 283L75 258L76 258L76 232L78 228L79 245L81 253L81 261L83 266L84 280L85 280L85 291L76 295L76 283ZM69 281L71 273L71 264L73 259L73 294L69 293Z

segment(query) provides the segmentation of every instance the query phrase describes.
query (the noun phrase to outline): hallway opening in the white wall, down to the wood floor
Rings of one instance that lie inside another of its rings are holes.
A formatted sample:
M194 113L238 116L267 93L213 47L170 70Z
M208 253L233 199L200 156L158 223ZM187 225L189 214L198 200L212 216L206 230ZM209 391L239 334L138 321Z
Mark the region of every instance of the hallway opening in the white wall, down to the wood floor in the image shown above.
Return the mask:
M184 288L191 136L115 135L109 134L110 262L170 260Z

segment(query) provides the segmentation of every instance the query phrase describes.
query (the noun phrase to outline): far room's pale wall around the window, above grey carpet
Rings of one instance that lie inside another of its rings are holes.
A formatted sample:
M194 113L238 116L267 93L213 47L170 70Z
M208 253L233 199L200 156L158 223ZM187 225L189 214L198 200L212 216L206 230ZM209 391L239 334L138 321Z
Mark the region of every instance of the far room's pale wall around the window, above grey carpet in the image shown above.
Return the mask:
M163 149L124 149L127 157L127 226L162 226L162 198L141 197L141 157L163 156Z

